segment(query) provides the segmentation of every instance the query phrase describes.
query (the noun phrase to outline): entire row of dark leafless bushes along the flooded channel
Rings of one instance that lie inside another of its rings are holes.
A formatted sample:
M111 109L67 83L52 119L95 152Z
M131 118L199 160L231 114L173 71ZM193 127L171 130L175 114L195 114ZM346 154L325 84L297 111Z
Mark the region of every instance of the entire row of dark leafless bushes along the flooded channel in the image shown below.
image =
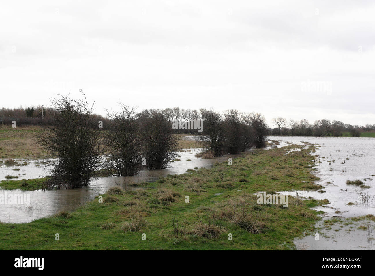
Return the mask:
M199 139L212 156L237 154L266 144L266 120L259 113L201 109L194 117L181 118L177 108L136 113L134 108L120 103L120 111L107 110L107 121L103 122L93 116L93 105L83 96L84 100L61 95L59 99L51 99L51 124L43 126L45 131L38 138L39 144L56 157L50 163L49 187L86 186L100 169L130 176L142 168L167 167L177 157L178 136L172 128L176 118L203 121Z

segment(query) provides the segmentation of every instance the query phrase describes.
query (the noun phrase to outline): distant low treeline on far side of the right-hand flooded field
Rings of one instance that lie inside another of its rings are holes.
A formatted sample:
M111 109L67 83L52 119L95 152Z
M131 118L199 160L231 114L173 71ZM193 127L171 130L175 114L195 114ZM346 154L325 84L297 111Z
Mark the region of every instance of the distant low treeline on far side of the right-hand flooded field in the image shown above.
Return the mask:
M275 128L269 129L270 135L291 135L291 136L342 136L345 132L358 137L363 131L375 131L375 125L367 124L366 127L360 125L344 124L341 121L320 119L310 123L306 119L295 121L278 117L274 118Z

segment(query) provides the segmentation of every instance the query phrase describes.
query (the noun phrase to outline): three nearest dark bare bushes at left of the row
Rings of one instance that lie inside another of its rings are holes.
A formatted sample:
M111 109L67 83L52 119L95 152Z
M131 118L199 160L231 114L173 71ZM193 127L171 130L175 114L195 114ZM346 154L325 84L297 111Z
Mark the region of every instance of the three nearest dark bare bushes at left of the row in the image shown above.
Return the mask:
M83 94L84 95L84 94ZM107 112L107 127L93 116L93 105L68 96L51 100L51 122L38 137L55 156L49 187L87 186L93 173L111 169L121 176L135 175L144 167L162 169L177 153L178 137L163 110L136 113L124 104L120 112Z

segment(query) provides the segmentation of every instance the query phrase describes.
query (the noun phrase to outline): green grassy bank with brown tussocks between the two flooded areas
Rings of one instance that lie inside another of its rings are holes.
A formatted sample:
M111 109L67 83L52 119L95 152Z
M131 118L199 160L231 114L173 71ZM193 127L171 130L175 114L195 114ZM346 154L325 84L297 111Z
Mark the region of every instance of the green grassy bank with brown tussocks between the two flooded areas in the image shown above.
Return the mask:
M112 188L102 203L97 197L75 211L31 223L0 223L0 249L294 248L293 239L318 220L310 208L327 200L290 196L283 208L258 205L253 193L321 188L310 172L314 146L286 154L297 147L257 150L232 166L216 163L170 175L142 183L142 190Z

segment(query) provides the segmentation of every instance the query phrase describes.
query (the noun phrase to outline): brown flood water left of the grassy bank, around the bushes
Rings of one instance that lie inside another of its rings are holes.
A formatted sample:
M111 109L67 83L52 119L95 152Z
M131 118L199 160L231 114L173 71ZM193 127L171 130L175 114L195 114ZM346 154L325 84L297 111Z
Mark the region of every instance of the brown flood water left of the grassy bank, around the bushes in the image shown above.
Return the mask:
M188 138L187 138L188 139ZM41 217L52 216L63 210L71 210L85 202L92 200L95 196L107 192L110 187L119 186L124 190L142 189L140 187L133 187L129 184L133 182L153 182L157 179L168 174L181 174L186 172L187 169L194 169L195 167L212 167L216 161L228 160L229 155L214 158L202 159L194 155L200 149L185 149L183 152L178 152L180 155L177 157L181 161L174 161L171 167L162 170L141 170L135 176L108 176L94 179L90 182L89 186L71 189L71 190L36 190L36 191L23 191L16 190L3 190L0 189L0 194L4 195L29 195L30 205L25 204L0 204L0 221L5 223L23 223L30 222ZM233 157L233 156L232 156ZM186 161L186 160L191 161ZM25 160L16 160L22 164ZM43 170L42 164L36 166L37 161L27 160L26 166L1 166L0 167L0 180L6 180L6 175L18 176L15 180L19 179L33 179L46 176L47 171ZM19 171L13 169L19 168ZM1 182L0 182L1 186Z

